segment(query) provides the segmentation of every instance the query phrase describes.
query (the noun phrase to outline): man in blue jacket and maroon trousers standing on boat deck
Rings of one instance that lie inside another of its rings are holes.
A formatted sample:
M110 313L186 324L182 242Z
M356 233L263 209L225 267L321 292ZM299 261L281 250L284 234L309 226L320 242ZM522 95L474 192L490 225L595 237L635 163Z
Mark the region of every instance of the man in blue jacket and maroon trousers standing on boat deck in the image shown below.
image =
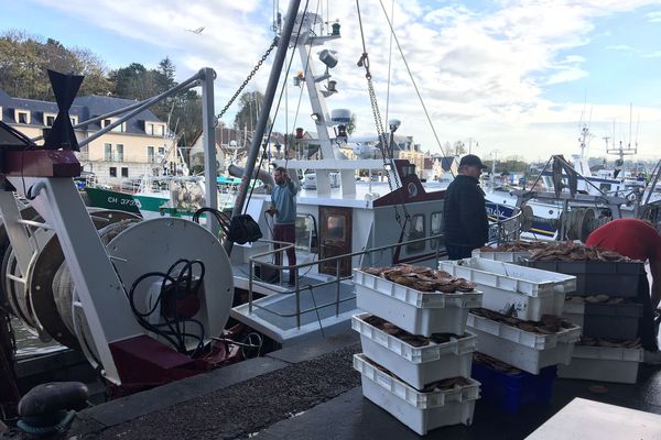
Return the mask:
M271 193L271 207L267 210L273 217L273 240L285 243L295 243L296 241L296 193L299 186L289 177L286 168L279 166L273 172L275 188ZM275 249L280 245L275 244ZM296 274L292 266L296 265L296 251L292 245L286 250L286 260L290 265L289 285L294 286ZM275 254L275 264L282 262L282 252Z

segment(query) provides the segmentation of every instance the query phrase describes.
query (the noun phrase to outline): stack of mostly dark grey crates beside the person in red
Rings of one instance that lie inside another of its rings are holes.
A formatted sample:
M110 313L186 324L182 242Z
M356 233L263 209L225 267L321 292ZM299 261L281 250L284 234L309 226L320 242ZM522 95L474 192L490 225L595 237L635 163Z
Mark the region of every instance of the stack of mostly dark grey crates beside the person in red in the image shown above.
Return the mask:
M531 267L576 276L575 296L567 298L564 316L583 328L572 363L559 370L561 377L636 383L643 350L635 341L642 305L636 302L640 275L638 262L531 261Z

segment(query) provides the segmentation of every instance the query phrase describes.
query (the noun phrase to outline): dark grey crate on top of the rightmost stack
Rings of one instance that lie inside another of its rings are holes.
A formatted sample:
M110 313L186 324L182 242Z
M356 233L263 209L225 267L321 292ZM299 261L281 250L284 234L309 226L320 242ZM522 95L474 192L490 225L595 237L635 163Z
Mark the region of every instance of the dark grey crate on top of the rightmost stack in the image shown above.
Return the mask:
M521 261L519 264L542 271L576 276L573 295L609 295L625 298L638 295L642 263L602 261Z

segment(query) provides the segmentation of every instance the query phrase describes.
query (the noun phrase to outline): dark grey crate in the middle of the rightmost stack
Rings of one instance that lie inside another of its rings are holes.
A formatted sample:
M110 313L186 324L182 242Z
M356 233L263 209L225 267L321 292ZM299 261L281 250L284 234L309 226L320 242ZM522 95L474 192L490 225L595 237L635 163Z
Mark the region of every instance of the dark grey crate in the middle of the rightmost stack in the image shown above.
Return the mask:
M638 336L638 322L642 305L586 304L583 318L583 336L631 340Z

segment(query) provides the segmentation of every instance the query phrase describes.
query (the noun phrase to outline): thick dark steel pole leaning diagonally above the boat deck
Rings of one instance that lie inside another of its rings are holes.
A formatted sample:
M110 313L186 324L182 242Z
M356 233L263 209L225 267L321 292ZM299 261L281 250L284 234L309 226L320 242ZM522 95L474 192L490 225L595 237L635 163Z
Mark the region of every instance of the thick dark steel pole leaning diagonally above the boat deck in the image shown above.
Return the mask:
M248 195L250 179L252 178L252 174L254 173L254 163L257 162L257 156L261 147L267 121L269 120L269 113L271 112L271 105L273 103L273 97L275 96L275 91L278 89L278 84L280 81L280 73L282 70L282 66L284 65L284 58L286 57L289 42L292 36L294 22L296 21L296 14L299 12L301 0L291 0L289 10L286 11L286 20L284 22L284 28L282 30L282 34L280 35L280 41L278 43L275 59L273 61L273 67L271 69L271 75L269 76L269 85L267 86L267 91L264 92L264 102L259 112L259 119L257 121L254 136L252 138L252 143L250 144L250 153L248 154L248 158L246 162L246 169L243 170L243 176L241 177L241 185L239 186L239 194L237 195L235 206L231 211L232 217L240 215L243 210L243 204L246 202L246 196ZM231 254L232 246L234 242L229 240L225 242L225 251L227 251L228 255Z

